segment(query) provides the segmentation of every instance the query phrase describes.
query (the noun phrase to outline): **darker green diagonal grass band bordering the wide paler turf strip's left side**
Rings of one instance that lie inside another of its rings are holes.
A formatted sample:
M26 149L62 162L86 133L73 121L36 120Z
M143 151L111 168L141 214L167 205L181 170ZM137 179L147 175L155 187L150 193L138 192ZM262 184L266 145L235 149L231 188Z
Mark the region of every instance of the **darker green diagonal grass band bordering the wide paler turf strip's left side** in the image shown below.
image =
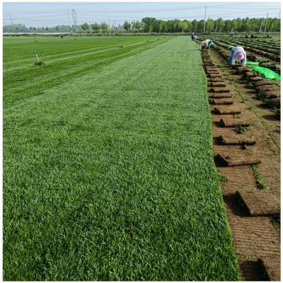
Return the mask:
M166 39L167 40L167 39ZM154 42L154 46L162 44ZM83 76L88 71L100 69L105 65L112 64L124 57L143 52L151 48L151 44L143 42L139 46L129 45L123 50L108 50L100 54L92 54L83 58L74 58L65 62L55 62L47 66L33 66L28 72L18 71L13 76L4 76L4 100L6 103L14 103L16 100L23 100L30 96L42 94L47 87L59 85L70 81L74 77ZM24 83L24 84L23 84Z

